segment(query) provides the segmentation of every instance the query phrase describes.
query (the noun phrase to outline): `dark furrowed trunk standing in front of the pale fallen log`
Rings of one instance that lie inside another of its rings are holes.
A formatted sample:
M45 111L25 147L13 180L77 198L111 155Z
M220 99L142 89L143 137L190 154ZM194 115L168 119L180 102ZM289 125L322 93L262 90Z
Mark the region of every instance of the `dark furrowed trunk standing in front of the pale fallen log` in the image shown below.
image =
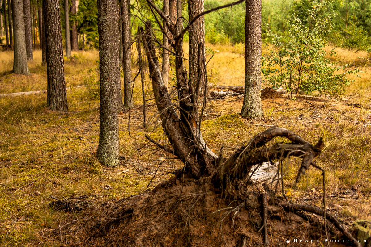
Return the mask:
M47 107L68 111L59 0L43 0L46 40Z

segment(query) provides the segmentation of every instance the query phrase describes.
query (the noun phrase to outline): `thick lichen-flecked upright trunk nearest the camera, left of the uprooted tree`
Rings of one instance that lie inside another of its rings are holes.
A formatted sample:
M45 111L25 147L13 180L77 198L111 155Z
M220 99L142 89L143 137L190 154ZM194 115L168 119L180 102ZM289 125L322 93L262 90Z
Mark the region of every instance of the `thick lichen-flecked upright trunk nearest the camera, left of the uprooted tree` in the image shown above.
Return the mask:
M120 65L117 0L98 0L100 131L96 156L105 166L119 163L118 90Z

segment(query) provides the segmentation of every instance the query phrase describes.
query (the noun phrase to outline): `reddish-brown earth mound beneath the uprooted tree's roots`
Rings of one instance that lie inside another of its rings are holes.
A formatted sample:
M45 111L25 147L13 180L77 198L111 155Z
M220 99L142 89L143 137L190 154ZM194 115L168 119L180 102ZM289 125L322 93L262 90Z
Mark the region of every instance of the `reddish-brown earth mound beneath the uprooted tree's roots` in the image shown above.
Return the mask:
M72 246L264 245L259 192L239 184L222 196L207 178L181 180L174 178L154 191L103 205L95 215L70 230L63 229L62 235L69 236L65 241ZM241 196L246 198L243 203L236 200ZM326 236L319 217L284 211L280 206L266 210L269 246L286 246L287 238L321 240Z

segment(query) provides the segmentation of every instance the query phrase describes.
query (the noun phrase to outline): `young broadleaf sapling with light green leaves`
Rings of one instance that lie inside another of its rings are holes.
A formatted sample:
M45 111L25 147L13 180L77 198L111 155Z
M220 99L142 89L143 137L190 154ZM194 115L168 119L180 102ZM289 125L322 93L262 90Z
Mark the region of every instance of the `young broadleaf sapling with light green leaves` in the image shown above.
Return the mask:
M284 91L289 99L318 91L327 94L329 100L344 93L345 86L352 82L347 78L348 74L359 71L351 70L351 64L339 67L325 58L325 35L331 33L334 14L321 15L326 8L325 2L313 3L312 6L305 22L298 16L293 17L286 40L269 32L272 43L278 48L270 50L270 54L262 58L265 78L273 87ZM334 50L330 56L336 56ZM343 70L341 74L340 70Z

